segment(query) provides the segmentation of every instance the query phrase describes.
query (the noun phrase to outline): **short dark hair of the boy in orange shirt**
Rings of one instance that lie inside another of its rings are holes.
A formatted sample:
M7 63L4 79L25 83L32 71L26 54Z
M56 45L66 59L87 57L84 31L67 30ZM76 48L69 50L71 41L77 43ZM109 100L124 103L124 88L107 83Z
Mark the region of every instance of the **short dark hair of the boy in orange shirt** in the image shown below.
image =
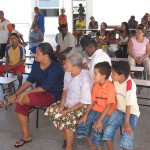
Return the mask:
M104 61L104 62L100 62L100 63L97 63L95 66L94 66L94 69L98 69L99 73L101 75L105 75L106 76L106 79L109 78L110 74L111 74L111 66L108 62Z

